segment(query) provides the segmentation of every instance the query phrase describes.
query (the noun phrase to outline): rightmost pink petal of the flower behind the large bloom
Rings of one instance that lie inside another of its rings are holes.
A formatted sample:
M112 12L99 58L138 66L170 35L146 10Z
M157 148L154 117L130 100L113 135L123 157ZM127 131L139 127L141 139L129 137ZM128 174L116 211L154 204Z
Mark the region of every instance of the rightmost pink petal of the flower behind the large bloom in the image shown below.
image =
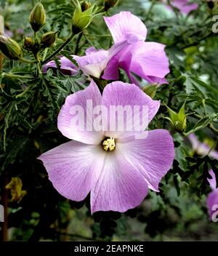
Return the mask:
M169 59L165 45L155 42L138 42L132 48L131 71L145 79L155 76L163 79L169 73Z

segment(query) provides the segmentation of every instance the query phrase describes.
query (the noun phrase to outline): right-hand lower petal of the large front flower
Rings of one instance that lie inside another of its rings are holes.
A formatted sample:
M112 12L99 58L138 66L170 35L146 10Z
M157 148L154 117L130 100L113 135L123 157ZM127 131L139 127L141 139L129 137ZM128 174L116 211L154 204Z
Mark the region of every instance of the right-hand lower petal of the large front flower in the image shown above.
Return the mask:
M161 179L174 161L174 142L166 129L148 131L148 137L117 143L124 152L126 162L140 170L148 188L159 191Z

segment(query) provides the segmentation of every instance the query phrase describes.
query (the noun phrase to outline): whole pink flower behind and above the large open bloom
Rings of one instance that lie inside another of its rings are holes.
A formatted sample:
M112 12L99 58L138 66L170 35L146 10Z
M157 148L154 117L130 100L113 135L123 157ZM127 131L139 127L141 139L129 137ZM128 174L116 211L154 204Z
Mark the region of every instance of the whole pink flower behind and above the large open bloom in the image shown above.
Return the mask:
M105 23L113 36L114 44L108 50L90 47L84 56L73 55L81 71L97 78L118 80L121 68L134 84L138 84L138 81L133 73L149 83L168 83L165 76L169 73L169 60L164 52L165 46L145 42L147 28L139 17L131 12L120 12L112 17L105 17ZM64 64L64 60L60 62Z

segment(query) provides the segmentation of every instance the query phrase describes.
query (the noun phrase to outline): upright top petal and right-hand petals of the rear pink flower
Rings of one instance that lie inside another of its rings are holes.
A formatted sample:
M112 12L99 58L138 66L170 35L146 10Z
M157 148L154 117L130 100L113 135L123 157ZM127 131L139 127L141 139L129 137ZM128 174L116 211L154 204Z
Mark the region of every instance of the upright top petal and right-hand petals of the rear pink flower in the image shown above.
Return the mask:
M138 17L131 12L120 12L112 17L105 17L105 23L115 44L127 38L132 38L132 44L110 59L103 79L118 80L118 69L121 68L135 84L137 80L132 73L150 83L167 83L164 77L169 73L169 60L164 52L165 46L145 42L147 28Z

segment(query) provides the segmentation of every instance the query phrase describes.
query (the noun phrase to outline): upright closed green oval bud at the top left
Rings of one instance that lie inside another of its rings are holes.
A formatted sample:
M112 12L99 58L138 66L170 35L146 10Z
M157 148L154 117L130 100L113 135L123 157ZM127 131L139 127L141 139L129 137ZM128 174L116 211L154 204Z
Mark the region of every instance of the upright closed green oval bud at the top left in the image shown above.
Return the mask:
M33 10L29 17L29 21L31 23L31 27L33 28L33 31L35 32L39 31L41 27L45 24L46 13L44 11L43 5L41 4L41 1L38 1L35 7L33 7Z

